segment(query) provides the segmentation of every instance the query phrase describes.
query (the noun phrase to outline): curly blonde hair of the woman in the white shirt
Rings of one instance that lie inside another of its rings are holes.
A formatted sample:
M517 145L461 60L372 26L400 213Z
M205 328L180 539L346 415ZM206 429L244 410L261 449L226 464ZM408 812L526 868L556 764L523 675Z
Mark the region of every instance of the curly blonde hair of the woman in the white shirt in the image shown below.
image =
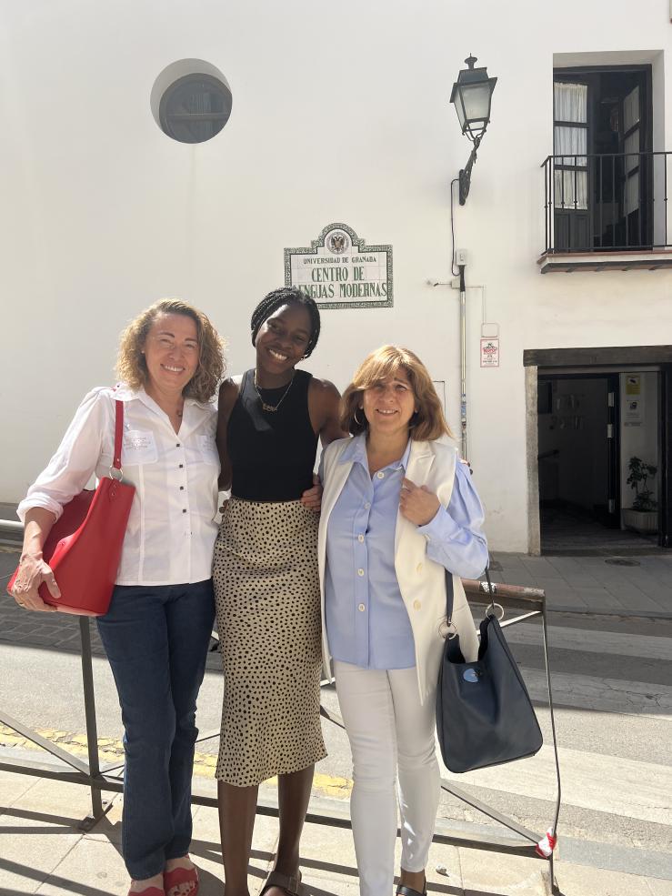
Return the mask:
M147 334L160 314L182 314L191 317L198 336L198 367L182 390L185 398L209 401L224 377L224 343L206 315L180 298L161 298L145 308L125 328L116 359L117 376L131 388L147 385L147 364L143 349Z

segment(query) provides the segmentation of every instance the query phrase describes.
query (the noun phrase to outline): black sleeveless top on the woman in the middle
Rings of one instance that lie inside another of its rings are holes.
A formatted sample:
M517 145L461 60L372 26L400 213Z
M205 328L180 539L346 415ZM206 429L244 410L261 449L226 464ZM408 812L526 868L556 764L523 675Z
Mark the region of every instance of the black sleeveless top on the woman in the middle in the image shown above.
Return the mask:
M296 370L292 386L276 411L265 411L247 370L231 410L226 450L231 460L231 494L248 501L295 501L313 485L317 436L308 414L312 375ZM286 386L259 388L276 405Z

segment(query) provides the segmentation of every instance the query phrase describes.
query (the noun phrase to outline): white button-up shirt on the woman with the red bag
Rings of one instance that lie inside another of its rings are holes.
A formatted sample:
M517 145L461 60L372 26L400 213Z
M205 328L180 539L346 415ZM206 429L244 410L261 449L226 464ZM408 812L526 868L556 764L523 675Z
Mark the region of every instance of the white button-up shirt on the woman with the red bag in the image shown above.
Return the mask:
M47 468L19 504L63 505L95 473L109 475L115 446L115 399L124 402L121 463L135 486L117 585L178 585L209 579L217 534L216 405L186 398L180 430L144 389L95 388L77 408Z

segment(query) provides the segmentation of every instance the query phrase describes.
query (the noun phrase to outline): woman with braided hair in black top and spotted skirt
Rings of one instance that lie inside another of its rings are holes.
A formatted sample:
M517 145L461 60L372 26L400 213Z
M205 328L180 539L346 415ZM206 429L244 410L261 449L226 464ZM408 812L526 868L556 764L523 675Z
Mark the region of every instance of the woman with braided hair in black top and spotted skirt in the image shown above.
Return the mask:
M225 675L217 760L226 896L247 896L259 784L278 777L280 838L263 892L299 889L299 839L313 770L326 755L319 721L320 588L314 486L317 439L344 433L339 395L296 364L316 347L315 301L276 289L251 321L256 366L219 392L220 485L231 488L215 545Z

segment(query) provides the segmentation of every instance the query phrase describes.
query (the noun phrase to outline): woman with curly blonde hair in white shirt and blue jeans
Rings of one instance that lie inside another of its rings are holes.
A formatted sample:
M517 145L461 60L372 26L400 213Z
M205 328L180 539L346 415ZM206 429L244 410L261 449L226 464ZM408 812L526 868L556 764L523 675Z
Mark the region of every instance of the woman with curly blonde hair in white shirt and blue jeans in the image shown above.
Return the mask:
M201 311L162 299L126 327L117 370L122 382L89 392L19 505L25 538L14 596L24 609L54 611L37 593L44 582L60 596L42 546L91 475L107 475L122 402L121 460L135 498L110 609L98 619L125 728L122 851L129 894L196 896L187 851L196 696L215 616L212 399L224 374L222 341Z

